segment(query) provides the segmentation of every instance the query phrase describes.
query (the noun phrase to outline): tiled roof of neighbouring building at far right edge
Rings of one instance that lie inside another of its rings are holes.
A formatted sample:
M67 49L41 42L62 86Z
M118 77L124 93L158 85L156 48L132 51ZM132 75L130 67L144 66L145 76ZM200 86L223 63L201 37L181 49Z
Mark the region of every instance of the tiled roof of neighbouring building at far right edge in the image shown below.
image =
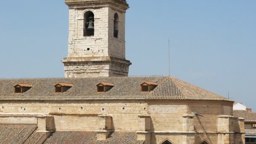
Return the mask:
M255 112L248 112L246 110L233 110L233 115L235 117L243 117L245 122L256 122L256 113Z

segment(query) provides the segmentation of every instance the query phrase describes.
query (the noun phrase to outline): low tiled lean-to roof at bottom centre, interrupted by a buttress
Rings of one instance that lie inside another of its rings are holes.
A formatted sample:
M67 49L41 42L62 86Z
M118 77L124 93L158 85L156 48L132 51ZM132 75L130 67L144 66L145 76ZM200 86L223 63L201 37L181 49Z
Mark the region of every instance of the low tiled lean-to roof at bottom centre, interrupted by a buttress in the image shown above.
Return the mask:
M95 131L56 131L44 144L143 144L136 132L116 131L107 140L97 140Z

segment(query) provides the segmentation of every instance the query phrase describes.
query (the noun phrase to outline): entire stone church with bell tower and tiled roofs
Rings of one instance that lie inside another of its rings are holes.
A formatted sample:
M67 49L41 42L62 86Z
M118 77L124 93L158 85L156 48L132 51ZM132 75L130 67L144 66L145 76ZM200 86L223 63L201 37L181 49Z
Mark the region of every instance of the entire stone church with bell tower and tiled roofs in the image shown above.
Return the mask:
M0 144L244 144L229 99L171 76L128 77L126 0L65 0L64 78L0 80Z

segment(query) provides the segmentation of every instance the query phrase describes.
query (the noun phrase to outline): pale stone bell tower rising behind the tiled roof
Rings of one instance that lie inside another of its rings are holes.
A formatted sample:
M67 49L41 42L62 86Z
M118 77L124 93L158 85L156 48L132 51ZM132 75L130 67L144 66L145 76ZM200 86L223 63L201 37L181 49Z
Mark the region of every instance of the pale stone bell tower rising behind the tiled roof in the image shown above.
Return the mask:
M65 0L69 6L65 77L128 76L125 59L126 0Z

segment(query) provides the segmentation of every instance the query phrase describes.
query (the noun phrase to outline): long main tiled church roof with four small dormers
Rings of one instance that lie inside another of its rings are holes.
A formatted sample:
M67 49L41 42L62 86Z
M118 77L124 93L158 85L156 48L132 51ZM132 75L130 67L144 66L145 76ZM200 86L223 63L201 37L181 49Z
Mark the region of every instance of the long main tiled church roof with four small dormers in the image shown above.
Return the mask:
M74 86L65 93L55 93L56 82L72 83ZM96 84L112 82L115 86L106 93L97 93ZM141 92L141 83L156 82L157 87L150 92ZM26 93L16 95L15 83L33 83ZM91 78L40 78L1 79L1 100L205 100L231 101L195 85L169 76L152 77L91 77Z

